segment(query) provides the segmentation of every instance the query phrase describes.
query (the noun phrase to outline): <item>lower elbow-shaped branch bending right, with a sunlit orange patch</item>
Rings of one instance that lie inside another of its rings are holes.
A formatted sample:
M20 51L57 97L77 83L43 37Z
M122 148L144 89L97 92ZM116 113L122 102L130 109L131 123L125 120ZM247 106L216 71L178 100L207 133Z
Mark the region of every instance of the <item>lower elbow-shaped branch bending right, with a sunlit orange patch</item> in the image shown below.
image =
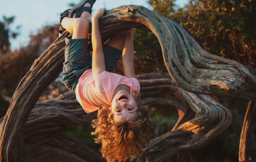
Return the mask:
M153 104L155 100L168 100L169 104L179 111L179 120L172 131L150 141L138 162L165 162L180 151L198 149L224 131L231 123L232 115L229 110L209 95L189 93L180 87L164 84L158 80L150 79L152 86L143 86L141 95L144 96L144 88L150 96L154 96L155 91L158 90L157 97L150 99L151 102L149 100L146 102ZM141 80L140 83L144 85Z

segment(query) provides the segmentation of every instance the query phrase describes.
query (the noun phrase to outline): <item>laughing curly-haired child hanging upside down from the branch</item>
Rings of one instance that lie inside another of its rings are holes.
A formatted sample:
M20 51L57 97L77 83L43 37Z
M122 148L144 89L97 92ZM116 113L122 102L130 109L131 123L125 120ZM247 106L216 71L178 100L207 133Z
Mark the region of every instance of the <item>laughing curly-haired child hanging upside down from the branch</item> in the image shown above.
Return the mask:
M98 111L92 135L101 143L101 153L108 162L138 158L151 134L150 109L137 102L139 81L134 70L132 29L118 33L106 44L101 41L98 20L106 11L92 16L92 56L88 51L91 7L95 1L83 0L61 14L60 31L65 38L63 82L76 94L86 113ZM68 15L70 17L68 17ZM124 75L111 73L122 57Z

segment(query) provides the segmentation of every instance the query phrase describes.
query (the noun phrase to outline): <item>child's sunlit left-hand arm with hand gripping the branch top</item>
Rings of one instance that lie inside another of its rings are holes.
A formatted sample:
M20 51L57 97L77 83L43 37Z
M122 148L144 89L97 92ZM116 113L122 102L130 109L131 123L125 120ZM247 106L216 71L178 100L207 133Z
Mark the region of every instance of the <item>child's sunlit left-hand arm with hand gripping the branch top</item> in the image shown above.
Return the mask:
M106 70L98 22L105 11L105 8L98 9L92 16L92 78Z

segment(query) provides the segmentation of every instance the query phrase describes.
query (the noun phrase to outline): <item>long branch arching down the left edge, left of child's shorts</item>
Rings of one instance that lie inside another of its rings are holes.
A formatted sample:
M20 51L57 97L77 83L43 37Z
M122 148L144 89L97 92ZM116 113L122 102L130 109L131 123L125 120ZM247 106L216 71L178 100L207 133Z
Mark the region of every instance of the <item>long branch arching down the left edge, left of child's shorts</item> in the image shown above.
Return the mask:
M24 160L24 126L40 95L61 73L63 52L64 40L60 37L35 60L16 88L1 124L1 161ZM9 155L8 152L12 154Z

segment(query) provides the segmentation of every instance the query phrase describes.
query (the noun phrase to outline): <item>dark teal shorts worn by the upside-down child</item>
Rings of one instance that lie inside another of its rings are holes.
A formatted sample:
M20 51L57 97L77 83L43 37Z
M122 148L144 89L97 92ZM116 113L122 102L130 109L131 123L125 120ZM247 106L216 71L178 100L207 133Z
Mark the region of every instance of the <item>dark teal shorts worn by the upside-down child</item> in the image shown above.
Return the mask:
M65 86L75 93L79 77L86 69L92 68L92 55L88 51L88 39L65 38L65 62L62 77ZM122 51L102 44L106 71L111 72L117 66Z

